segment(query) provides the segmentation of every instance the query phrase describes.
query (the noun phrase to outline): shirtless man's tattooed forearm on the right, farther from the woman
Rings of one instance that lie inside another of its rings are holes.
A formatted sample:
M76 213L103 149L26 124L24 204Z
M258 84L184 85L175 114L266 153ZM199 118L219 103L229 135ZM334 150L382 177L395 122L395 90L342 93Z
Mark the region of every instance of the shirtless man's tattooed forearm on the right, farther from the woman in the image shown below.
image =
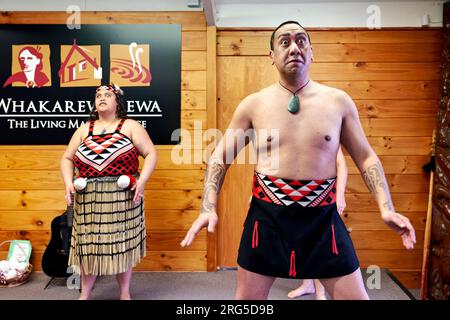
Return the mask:
M363 171L364 181L383 211L394 211L389 186L380 162L370 165Z

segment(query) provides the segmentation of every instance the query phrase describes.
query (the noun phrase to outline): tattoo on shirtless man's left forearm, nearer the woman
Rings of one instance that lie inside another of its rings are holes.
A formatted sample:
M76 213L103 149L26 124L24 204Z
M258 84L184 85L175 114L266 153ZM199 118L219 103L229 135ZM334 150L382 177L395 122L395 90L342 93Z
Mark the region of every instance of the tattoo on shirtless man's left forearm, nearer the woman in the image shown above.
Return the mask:
M226 165L216 161L211 162L206 168L205 186L203 190L203 201L200 212L208 213L216 208L216 201L211 201L209 195L211 193L218 194L222 186L226 173Z

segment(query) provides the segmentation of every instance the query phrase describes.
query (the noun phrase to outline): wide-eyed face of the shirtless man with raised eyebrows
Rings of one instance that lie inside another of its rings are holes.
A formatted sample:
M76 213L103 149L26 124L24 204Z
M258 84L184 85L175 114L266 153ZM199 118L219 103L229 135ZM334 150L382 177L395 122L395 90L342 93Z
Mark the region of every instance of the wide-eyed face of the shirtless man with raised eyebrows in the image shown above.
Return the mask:
M270 57L281 73L306 71L312 61L312 48L306 31L297 24L282 26L275 32Z

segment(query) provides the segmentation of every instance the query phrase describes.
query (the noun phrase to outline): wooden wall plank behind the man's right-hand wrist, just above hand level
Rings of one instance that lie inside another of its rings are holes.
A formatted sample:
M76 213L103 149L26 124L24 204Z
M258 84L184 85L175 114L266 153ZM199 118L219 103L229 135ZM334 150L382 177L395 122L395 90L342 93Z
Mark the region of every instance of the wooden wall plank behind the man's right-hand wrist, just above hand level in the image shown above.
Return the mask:
M428 206L428 193L392 193L392 201L398 212L425 212ZM370 193L347 193L347 211L379 212L378 205Z

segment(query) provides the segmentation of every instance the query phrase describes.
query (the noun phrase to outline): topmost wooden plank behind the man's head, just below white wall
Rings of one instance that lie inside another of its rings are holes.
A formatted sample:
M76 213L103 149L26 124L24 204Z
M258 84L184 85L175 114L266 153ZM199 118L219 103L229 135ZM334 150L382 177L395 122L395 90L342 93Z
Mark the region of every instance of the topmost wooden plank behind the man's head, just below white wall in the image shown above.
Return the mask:
M252 43L266 43L269 50L269 40L272 31L219 30L218 39L227 37L252 39ZM423 30L313 30L308 28L313 48L320 43L441 43L441 28ZM240 43L240 41L237 41Z

